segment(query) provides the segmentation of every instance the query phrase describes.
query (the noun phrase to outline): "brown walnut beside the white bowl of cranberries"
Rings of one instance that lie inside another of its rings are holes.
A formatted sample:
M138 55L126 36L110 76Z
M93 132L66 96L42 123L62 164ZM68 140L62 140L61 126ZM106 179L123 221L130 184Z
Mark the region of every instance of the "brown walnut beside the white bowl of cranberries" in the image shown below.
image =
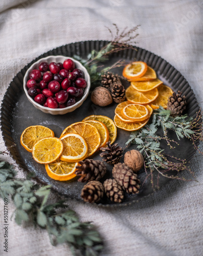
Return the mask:
M108 89L97 87L91 94L91 100L98 106L107 106L112 103L112 97Z

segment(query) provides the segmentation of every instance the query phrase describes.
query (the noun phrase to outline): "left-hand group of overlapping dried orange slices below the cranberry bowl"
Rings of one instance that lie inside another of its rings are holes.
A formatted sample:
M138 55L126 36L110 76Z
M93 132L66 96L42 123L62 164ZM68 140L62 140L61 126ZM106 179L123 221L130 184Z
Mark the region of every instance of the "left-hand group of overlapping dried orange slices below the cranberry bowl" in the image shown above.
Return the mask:
M88 116L82 122L67 126L60 138L48 127L34 125L22 132L20 143L32 152L33 159L44 164L47 174L55 180L73 179L78 162L116 140L117 127L106 116Z

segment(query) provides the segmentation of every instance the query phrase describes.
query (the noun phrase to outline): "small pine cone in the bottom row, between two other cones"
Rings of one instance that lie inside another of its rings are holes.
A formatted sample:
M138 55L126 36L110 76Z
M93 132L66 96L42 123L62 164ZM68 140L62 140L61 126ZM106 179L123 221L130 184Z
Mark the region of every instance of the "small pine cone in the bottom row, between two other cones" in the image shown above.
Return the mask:
M121 203L123 201L124 193L122 187L115 179L107 179L104 181L104 191L110 201L115 203Z

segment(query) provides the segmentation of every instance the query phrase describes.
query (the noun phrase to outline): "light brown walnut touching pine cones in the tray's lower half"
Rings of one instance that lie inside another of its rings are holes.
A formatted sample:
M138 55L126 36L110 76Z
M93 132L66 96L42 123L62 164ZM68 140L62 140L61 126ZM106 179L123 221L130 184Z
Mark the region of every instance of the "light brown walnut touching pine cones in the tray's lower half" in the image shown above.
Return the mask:
M124 163L137 173L144 165L144 158L140 151L130 150L124 155Z

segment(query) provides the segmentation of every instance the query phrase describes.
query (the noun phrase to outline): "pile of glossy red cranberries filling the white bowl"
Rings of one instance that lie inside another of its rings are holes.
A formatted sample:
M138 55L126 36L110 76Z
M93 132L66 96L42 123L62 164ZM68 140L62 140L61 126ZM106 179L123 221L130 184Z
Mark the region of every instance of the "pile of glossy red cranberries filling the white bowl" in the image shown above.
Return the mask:
M62 109L74 105L87 86L84 74L72 59L63 63L41 62L29 74L28 94L40 105Z

